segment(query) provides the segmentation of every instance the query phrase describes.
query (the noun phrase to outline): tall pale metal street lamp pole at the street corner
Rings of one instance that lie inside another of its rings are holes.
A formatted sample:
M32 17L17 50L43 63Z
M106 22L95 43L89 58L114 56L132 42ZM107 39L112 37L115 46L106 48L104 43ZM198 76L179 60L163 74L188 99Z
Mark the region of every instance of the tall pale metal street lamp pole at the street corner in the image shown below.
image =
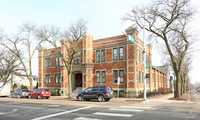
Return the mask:
M136 10L132 10L132 12L137 15L137 12ZM142 22L141 22L142 23ZM144 74L143 74L143 85L144 85L144 101L147 100L147 96L146 96L146 53L145 53L145 24L143 22L143 52L142 52L142 55L143 55L143 69L144 69Z

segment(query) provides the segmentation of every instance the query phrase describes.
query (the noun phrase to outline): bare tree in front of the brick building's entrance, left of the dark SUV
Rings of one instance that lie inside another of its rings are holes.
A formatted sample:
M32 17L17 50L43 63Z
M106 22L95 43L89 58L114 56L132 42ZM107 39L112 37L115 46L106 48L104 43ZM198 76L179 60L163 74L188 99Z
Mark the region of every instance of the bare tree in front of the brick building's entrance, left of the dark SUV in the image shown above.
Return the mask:
M71 24L63 33L54 26L43 26L38 29L37 37L41 40L49 42L58 52L63 61L64 67L68 74L69 97L72 98L72 65L75 54L80 50L78 43L83 35L86 34L86 22L79 20L76 24ZM66 56L59 47L61 42L64 49L66 49ZM65 82L63 82L64 84Z

